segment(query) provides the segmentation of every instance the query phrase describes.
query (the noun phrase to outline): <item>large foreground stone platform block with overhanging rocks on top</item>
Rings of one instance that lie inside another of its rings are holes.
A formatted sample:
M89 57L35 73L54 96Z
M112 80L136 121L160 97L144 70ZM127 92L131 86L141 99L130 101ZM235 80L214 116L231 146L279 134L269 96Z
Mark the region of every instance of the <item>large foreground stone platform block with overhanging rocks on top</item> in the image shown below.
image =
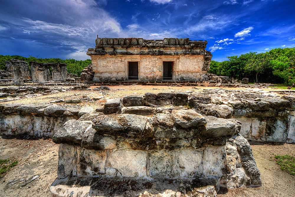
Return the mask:
M62 196L138 196L172 188L185 195L196 192L197 183L213 185L213 190L260 186L240 127L234 119L202 116L193 109L153 116L84 114L53 136L60 148L58 179L50 190ZM83 177L85 190L77 190L72 177ZM132 187L123 186L130 181Z

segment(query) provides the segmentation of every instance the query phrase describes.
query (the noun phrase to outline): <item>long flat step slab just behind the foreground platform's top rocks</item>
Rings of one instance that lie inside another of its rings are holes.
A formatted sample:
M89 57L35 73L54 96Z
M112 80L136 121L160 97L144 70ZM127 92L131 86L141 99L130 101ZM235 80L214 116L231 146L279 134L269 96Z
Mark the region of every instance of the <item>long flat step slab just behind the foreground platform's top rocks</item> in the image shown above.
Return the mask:
M158 113L168 114L171 112L171 107L132 106L122 108L122 114L137 114L142 116L155 115Z

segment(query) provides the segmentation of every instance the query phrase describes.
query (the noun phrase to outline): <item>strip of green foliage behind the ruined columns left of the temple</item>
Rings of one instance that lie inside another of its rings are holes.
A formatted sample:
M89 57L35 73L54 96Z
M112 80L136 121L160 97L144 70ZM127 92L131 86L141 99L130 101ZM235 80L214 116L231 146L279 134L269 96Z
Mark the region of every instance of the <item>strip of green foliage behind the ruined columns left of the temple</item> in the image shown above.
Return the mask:
M80 76L81 71L88 66L88 64L91 64L90 59L86 59L84 61L76 60L76 59L59 59L59 58L37 58L37 57L23 57L19 55L0 55L0 70L5 69L5 63L4 61L10 61L10 59L20 59L25 62L39 62L39 63L55 63L55 62L61 62L61 63L66 63L67 64L67 70L69 73L76 74Z

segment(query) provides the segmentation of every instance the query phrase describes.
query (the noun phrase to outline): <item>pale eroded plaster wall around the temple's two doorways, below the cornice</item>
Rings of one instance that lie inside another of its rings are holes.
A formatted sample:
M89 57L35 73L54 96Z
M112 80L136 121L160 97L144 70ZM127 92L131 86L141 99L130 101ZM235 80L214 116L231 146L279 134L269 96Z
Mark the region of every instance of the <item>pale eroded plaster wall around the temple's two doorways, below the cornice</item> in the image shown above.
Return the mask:
M134 49L136 50L136 49ZM172 80L203 80L202 55L91 55L93 81L128 80L128 62L138 62L139 80L162 80L163 61L173 62Z

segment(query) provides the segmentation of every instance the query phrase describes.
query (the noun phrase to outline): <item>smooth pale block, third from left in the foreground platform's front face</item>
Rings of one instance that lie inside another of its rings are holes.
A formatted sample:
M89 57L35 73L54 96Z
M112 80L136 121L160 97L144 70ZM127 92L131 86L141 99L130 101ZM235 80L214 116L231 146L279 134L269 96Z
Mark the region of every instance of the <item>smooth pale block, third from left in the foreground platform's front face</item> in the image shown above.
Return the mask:
M117 150L110 153L110 164L123 177L147 177L147 153L138 150Z

